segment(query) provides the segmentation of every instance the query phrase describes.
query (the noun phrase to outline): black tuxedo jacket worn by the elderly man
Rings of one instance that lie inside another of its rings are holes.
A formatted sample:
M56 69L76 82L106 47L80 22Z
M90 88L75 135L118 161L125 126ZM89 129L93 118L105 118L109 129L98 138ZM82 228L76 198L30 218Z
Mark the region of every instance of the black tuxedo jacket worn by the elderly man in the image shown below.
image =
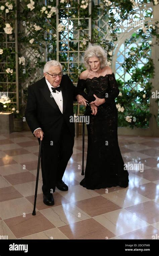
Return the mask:
M73 116L73 100L77 95L76 87L67 74L62 76L60 83L63 98L63 114L46 83L45 77L28 87L28 100L25 117L32 131L41 127L44 132L44 141L57 142L60 136L63 121L69 127L72 137L75 135L74 123L70 123Z

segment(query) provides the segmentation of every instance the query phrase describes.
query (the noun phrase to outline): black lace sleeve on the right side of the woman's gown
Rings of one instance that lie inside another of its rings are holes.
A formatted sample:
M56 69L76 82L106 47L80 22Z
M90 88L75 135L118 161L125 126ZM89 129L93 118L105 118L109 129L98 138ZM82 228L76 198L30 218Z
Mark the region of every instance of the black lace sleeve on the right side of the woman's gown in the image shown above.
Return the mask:
M106 94L105 103L110 104L119 94L118 84L115 79L114 73L108 75L109 89L108 95Z

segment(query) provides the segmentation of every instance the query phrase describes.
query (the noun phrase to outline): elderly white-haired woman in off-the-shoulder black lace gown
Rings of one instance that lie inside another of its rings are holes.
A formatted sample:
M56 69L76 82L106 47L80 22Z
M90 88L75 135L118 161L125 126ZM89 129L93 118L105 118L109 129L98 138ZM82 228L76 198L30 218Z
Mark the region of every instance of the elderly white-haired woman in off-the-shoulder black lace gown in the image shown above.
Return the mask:
M80 185L87 189L128 186L128 172L118 146L118 111L115 98L119 88L111 68L107 66L107 52L99 45L85 51L87 70L78 78L77 97L80 104L88 101L98 107L97 114L88 113L88 150L85 178ZM86 92L84 90L86 89Z

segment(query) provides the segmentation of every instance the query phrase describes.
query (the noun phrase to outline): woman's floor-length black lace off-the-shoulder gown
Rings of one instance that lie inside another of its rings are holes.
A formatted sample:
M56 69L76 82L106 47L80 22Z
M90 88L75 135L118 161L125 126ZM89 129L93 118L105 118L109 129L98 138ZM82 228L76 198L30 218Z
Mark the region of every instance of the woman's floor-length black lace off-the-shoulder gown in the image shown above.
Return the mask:
M86 89L86 92L84 90ZM78 94L89 102L98 98L105 98L106 102L98 106L96 116L91 115L88 130L88 150L85 178L80 185L87 189L101 189L128 186L128 172L118 145L117 127L118 112L115 98L119 88L114 73L105 76L85 79L78 78ZM88 107L89 108L89 107Z

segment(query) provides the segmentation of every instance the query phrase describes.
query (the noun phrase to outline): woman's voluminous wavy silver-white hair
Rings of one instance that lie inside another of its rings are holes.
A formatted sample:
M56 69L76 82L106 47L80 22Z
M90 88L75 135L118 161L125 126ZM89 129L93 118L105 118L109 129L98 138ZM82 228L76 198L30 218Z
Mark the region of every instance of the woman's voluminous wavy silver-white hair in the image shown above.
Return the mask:
M89 65L89 58L97 57L100 59L101 68L107 66L107 51L98 44L92 44L87 47L84 55L84 63L87 69L91 69Z

